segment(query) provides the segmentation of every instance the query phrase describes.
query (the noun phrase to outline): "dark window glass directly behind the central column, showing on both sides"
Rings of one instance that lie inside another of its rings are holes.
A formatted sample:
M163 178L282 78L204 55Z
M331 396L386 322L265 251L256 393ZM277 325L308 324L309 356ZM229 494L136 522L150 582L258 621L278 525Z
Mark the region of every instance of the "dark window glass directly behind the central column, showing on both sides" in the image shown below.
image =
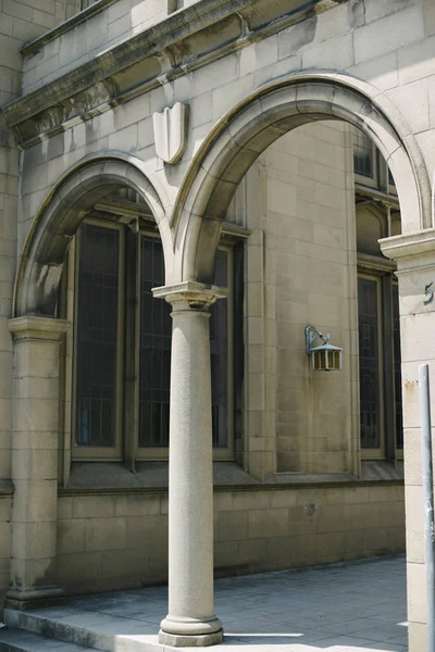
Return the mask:
M139 446L169 447L171 380L171 305L153 299L152 288L164 285L160 240L141 236ZM227 253L217 251L215 283L227 286ZM228 443L227 300L210 309L213 446Z

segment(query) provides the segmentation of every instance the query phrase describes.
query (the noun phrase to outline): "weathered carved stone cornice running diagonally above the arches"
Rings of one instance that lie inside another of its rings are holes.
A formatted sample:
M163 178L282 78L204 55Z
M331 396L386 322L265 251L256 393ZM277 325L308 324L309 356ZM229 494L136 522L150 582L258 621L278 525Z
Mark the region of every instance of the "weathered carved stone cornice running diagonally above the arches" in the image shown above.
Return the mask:
M100 1L105 2L104 7L111 2ZM326 11L337 1L201 0L7 104L1 113L15 133L18 145L32 147L116 104ZM99 9L102 11L103 8ZM70 25L73 26L75 24ZM49 36L34 41L28 48L36 48Z

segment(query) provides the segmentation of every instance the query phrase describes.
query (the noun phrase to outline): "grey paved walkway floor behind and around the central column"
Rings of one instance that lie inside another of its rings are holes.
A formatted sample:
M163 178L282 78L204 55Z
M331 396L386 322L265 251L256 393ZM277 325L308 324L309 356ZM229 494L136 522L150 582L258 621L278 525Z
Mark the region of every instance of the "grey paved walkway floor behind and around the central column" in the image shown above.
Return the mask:
M220 579L215 613L224 623L225 642L219 649L406 651L405 573L405 557L395 556ZM152 587L92 595L72 600L67 611L71 617L71 610L77 610L76 619L86 611L103 630L114 631L122 622L123 634L130 628L132 635L140 631L142 640L154 643L166 614L166 587ZM66 616L55 611L61 619Z

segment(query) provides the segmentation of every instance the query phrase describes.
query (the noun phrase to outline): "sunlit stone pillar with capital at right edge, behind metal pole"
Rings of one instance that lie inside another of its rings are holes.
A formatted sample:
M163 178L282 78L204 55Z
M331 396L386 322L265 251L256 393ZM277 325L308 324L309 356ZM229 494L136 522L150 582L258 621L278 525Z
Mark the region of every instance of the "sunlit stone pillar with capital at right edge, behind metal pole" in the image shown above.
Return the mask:
M400 297L400 348L403 400L405 501L409 651L427 650L421 465L419 364L427 363L431 381L432 438L435 441L435 229L381 240L397 261ZM425 301L430 300L427 303Z

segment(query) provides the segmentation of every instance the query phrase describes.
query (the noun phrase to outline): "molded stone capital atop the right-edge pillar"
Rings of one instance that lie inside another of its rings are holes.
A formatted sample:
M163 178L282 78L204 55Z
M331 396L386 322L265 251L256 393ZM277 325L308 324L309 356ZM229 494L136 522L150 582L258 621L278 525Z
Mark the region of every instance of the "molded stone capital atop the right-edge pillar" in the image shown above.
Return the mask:
M399 272L434 266L435 228L382 238L378 242L383 254L397 261Z

